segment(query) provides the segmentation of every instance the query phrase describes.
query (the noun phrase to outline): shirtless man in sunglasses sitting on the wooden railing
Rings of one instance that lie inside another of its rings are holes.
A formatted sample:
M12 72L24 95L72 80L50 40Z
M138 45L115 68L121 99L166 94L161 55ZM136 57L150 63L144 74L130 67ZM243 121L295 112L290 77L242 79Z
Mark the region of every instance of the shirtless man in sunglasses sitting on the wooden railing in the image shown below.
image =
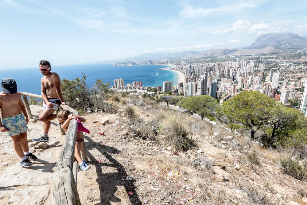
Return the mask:
M39 69L44 76L41 78L41 96L43 97L43 112L39 116L39 120L44 122L44 133L33 142L48 142L48 132L50 121L56 118L54 111L58 109L60 104L65 105L62 96L62 85L60 76L57 73L51 73L51 65L48 61L41 61Z

